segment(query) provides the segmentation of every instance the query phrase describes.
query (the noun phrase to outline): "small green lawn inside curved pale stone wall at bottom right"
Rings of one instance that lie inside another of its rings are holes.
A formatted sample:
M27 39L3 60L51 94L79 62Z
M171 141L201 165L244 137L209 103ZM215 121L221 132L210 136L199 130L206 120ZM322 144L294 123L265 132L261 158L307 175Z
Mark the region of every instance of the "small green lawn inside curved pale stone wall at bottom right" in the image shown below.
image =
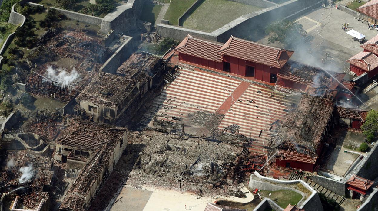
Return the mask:
M286 208L287 205L290 203L291 205L296 205L301 199L302 195L288 190L279 190L279 191L259 191L261 197L268 197L269 193L272 193L270 199L277 203L282 208Z

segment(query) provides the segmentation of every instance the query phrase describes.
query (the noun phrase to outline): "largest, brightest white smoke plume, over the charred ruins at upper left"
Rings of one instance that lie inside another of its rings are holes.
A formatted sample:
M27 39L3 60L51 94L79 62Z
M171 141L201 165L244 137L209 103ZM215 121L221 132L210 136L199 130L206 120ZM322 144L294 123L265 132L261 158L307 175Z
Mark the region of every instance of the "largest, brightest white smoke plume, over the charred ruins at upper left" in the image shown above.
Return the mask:
M53 69L52 66L47 66L46 78L58 82L60 87L74 88L74 86L81 81L79 73L75 68L71 72L67 72L63 68Z

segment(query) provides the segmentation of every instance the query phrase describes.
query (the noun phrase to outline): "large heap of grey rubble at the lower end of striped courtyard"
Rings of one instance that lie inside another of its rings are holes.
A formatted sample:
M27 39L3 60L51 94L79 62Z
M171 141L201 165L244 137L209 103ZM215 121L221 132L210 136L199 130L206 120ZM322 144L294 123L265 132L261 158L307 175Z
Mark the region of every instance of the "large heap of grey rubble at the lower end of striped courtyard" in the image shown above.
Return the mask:
M144 131L133 144L145 146L127 180L133 186L228 195L245 173L239 170L247 153L240 146L156 131Z

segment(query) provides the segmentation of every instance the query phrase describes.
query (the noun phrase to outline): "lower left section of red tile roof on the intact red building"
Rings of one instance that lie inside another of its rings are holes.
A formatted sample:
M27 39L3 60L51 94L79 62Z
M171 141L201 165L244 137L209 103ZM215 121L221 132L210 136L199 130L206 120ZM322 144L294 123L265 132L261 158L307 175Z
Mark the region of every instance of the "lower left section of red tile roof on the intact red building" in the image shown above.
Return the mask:
M188 34L175 48L175 51L214 62L222 62L222 54L218 53L222 45L222 43L200 39Z

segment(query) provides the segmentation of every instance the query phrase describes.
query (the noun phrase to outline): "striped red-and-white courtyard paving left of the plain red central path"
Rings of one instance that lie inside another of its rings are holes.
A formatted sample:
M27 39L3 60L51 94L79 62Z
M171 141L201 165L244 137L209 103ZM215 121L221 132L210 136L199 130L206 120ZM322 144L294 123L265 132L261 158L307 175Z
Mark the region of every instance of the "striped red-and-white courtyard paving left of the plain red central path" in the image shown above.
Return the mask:
M180 69L180 75L155 98L152 111L145 116L185 118L189 112L215 112L240 82L218 74Z

